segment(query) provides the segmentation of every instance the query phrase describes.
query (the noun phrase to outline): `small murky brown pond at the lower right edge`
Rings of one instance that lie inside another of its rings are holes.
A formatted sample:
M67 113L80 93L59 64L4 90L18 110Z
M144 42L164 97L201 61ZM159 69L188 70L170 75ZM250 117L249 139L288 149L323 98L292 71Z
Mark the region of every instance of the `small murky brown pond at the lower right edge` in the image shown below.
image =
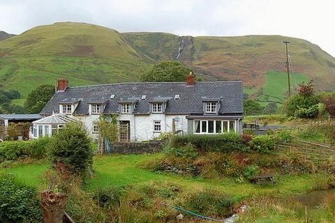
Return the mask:
M335 194L335 190L314 190L307 194L301 194L295 197L296 201L306 205L308 208L316 208L322 205L326 197Z

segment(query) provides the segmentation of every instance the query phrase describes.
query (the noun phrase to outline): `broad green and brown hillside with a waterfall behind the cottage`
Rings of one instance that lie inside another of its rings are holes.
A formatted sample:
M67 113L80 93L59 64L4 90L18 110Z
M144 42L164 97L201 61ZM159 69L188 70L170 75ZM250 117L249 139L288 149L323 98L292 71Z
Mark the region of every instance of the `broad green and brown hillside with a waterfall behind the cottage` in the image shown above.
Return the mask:
M17 89L26 97L59 77L68 77L72 86L134 82L156 61L178 59L204 80L241 79L253 98L280 103L286 92L282 40L291 41L293 85L313 79L320 90L334 89L334 57L306 40L119 33L73 22L37 26L1 41L0 89Z

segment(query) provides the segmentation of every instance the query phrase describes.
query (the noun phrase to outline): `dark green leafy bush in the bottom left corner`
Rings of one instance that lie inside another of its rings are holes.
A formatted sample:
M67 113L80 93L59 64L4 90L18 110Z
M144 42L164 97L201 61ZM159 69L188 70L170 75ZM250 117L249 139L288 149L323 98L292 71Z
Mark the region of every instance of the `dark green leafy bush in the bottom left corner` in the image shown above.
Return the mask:
M0 176L0 220L3 223L43 221L36 190L18 184L10 174Z

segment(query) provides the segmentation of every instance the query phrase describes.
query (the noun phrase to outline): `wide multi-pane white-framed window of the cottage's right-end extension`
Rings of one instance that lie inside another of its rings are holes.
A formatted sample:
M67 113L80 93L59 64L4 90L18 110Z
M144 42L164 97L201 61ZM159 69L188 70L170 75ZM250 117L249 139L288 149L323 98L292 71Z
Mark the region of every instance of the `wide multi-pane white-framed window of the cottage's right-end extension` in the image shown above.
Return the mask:
M236 132L236 121L234 120L195 120L193 123L193 132L195 134Z

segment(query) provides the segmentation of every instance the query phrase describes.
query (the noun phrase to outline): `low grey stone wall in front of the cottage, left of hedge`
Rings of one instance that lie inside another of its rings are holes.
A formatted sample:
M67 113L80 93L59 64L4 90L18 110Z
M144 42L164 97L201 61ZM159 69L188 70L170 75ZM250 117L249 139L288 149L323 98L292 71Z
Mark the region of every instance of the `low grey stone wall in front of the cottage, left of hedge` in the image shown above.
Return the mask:
M110 144L112 153L121 154L141 154L141 153L157 153L162 150L163 141L130 142L130 143L113 143Z

